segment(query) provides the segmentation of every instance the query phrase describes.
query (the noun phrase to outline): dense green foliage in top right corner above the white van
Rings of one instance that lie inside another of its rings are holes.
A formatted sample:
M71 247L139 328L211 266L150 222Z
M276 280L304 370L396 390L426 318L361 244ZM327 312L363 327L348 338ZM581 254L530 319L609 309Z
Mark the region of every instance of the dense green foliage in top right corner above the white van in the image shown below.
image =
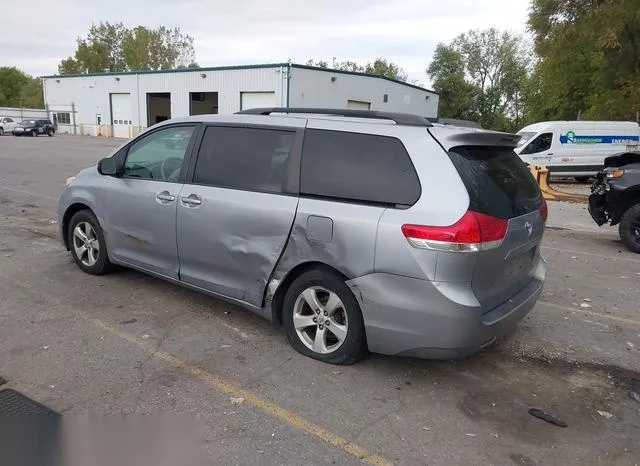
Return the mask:
M529 28L539 56L531 119L636 119L638 0L533 0Z

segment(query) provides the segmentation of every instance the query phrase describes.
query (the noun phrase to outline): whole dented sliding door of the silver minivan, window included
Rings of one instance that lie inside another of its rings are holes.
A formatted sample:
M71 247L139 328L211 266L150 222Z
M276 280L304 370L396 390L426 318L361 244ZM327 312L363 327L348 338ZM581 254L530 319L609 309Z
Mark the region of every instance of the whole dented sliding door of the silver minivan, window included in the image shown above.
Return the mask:
M209 126L178 205L180 279L262 305L298 205L303 130Z

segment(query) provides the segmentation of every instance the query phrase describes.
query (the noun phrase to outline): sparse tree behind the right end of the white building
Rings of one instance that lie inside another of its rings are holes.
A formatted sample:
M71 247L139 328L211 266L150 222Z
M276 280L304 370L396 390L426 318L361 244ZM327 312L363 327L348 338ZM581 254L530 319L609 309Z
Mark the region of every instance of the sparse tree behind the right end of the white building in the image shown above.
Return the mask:
M438 44L427 74L441 93L441 116L513 131L522 124L530 54L520 36L471 30Z

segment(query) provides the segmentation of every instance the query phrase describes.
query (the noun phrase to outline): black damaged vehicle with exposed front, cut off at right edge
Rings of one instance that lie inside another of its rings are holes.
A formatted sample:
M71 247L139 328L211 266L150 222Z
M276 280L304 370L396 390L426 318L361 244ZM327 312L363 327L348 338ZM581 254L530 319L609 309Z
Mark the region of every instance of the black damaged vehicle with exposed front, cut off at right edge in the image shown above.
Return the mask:
M591 186L589 213L599 226L620 225L620 238L640 253L640 153L627 152L604 160L604 170Z

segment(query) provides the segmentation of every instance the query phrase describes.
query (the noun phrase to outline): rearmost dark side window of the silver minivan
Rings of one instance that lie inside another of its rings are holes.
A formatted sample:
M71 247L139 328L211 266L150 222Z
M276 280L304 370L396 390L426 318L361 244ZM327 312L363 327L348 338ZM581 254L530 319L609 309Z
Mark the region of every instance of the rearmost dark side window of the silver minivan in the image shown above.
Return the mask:
M302 149L300 194L351 202L413 205L421 187L399 139L309 129Z

